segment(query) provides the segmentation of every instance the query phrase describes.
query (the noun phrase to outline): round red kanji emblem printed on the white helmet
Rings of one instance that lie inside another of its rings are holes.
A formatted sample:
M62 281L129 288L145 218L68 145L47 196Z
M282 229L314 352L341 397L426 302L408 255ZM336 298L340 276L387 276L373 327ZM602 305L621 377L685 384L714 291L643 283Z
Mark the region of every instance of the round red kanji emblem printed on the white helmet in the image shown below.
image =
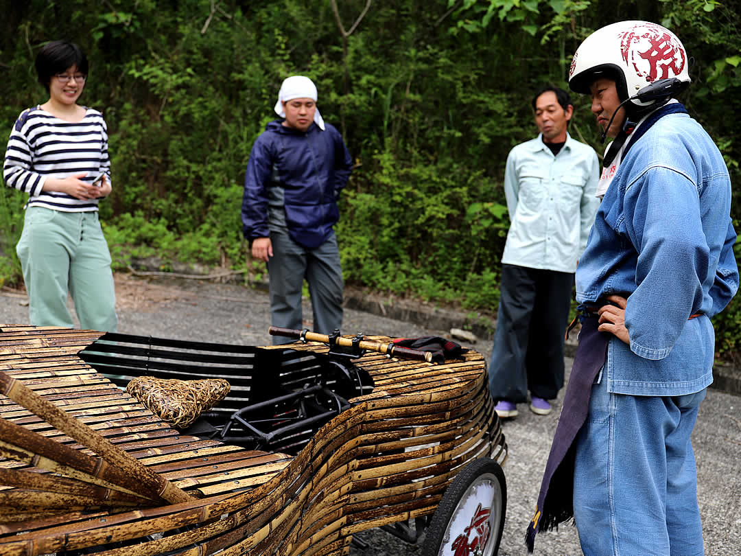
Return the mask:
M631 64L648 83L678 76L687 63L682 44L654 24L639 24L622 33L620 50L625 63Z

